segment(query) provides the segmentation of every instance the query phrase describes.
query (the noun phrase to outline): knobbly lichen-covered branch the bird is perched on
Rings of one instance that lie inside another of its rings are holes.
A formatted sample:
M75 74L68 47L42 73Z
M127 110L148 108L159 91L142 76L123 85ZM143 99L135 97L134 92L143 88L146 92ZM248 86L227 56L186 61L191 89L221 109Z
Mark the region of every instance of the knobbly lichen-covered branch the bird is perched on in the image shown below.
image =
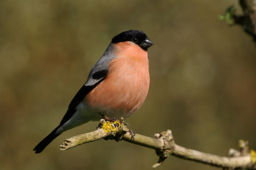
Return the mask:
M60 146L60 149L68 150L70 148L74 148L75 146L97 141L102 138L115 139L116 141L120 141L120 139L122 139L124 141L128 141L129 143L134 143L136 145L141 145L156 150L157 155L159 155L159 161L152 166L153 168L160 166L169 155L173 155L182 159L209 164L211 166L223 167L223 169L256 169L256 152L251 150L249 153L248 141L239 141L240 152L230 149L230 157L220 157L217 155L184 148L175 144L172 131L170 130L161 132L161 134L155 134L156 139L136 134L134 140L132 140L130 134L127 133L128 131L129 129L127 129L124 124L120 124L119 121L109 123L102 119L100 120L97 131L89 132L87 134L80 134L66 139Z

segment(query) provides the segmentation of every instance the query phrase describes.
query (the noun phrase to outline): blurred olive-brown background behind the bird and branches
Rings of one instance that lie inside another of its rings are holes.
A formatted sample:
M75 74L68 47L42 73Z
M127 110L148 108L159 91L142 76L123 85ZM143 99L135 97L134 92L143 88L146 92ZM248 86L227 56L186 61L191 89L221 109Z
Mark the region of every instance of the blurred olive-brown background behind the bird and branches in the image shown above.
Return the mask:
M241 27L218 19L232 0L0 1L0 169L151 169L154 150L96 141L60 151L90 122L33 148L59 123L111 38L144 31L150 90L127 120L138 134L171 129L187 148L227 156L256 149L256 50ZM217 169L169 157L157 169Z

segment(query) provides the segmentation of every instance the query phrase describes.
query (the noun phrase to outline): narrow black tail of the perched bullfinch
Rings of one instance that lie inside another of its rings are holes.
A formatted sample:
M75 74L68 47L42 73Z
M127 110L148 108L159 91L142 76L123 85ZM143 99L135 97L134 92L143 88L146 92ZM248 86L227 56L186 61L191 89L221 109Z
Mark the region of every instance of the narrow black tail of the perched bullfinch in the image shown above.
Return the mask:
M56 134L58 129L59 129L59 126L56 127L56 129L54 129L51 132L51 134L46 136L46 138L44 138L40 143L38 143L38 145L36 145L36 147L34 148L36 153L41 153L47 145L49 145L55 138L57 138L61 134L61 133Z

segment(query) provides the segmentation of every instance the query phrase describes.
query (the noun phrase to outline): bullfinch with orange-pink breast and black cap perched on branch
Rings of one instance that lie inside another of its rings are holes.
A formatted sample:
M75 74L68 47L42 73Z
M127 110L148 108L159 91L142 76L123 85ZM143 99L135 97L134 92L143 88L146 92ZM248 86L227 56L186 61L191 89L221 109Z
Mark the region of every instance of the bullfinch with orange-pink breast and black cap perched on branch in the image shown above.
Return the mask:
M144 103L149 89L148 48L154 45L143 31L121 32L112 38L92 67L58 125L34 148L41 153L62 132L90 121L129 118Z

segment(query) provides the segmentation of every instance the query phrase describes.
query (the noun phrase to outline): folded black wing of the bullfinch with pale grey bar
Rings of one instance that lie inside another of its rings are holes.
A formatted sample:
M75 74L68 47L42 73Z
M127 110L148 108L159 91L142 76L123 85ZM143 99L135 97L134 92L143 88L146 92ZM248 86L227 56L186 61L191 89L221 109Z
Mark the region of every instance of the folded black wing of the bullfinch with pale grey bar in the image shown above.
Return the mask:
M76 106L83 101L84 97L93 90L99 83L101 83L108 75L108 70L104 69L102 71L97 71L92 74L90 78L86 81L86 83L81 87L81 89L77 92L76 96L72 99L68 106L67 113L62 118L60 125L65 124L73 115L76 113Z

